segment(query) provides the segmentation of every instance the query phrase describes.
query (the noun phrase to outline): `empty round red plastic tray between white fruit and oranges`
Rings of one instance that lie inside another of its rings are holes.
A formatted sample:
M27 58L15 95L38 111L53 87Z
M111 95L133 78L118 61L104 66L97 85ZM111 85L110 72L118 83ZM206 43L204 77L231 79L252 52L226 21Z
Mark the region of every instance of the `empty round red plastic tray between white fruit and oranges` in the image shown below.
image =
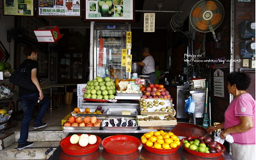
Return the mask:
M134 136L127 135L109 136L102 140L102 147L110 154L132 154L140 147L140 140Z

